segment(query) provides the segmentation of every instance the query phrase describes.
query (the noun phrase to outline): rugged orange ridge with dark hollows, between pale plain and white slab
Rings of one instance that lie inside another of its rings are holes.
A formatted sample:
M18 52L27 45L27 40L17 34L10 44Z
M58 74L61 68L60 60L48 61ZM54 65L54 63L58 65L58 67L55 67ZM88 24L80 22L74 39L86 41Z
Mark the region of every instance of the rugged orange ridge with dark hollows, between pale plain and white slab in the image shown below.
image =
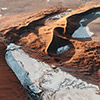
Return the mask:
M81 28L85 28L85 34L88 33L86 26L99 18L99 14L95 16L95 13L100 11L99 7L100 5L91 5L74 11L67 8L50 9L35 15L31 13L2 17L0 21L4 22L0 24L0 32L3 38L22 45L23 50L31 57L49 64L76 68L77 72L83 75L99 79L100 41L92 41L91 35L89 39L72 37L73 33ZM91 13L95 17L92 20L88 17ZM82 32L84 35L84 31ZM60 51L58 54L57 50Z

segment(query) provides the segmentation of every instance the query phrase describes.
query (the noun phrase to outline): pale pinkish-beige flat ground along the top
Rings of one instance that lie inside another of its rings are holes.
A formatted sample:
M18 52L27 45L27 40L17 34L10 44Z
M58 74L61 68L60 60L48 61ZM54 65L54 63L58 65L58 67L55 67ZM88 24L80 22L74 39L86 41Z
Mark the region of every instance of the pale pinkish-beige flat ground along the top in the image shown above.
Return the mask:
M49 1L49 2L48 2ZM50 7L79 7L85 4L96 4L99 0L0 0L0 7L7 7L3 15L35 12Z

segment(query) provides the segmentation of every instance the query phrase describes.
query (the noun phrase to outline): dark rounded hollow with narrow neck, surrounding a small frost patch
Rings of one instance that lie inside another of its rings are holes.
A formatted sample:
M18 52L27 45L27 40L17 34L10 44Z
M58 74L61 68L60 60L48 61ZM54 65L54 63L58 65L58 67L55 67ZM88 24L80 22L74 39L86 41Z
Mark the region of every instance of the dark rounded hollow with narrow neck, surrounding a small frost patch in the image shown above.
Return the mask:
M67 61L75 54L75 48L73 44L68 39L63 38L64 36L60 32L63 32L63 28L58 27L54 29L53 39L47 50L48 54L54 57L56 62ZM66 45L68 45L70 49L58 55L57 49Z

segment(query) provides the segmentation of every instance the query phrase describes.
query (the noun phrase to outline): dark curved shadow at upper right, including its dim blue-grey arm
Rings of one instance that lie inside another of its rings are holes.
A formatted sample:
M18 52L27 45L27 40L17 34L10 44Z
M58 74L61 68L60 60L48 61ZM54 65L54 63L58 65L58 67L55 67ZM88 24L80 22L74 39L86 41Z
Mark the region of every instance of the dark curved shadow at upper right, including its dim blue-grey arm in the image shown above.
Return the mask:
M68 17L66 19L67 20L67 27L65 32L66 37L71 38L75 30L77 30L80 27L80 24L83 27L85 27L90 22L100 17L100 14L96 14L96 12L98 11L100 12L100 7L93 8L83 13L75 14L73 16ZM84 19L84 21L80 23L82 19Z

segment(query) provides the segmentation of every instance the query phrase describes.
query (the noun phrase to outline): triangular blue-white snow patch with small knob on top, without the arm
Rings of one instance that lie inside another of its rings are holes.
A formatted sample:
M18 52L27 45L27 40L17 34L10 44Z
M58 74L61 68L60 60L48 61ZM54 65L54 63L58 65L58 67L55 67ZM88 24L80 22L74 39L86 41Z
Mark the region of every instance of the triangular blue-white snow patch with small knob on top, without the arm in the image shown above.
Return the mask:
M82 23L84 23L87 19L82 19L80 23L80 27L73 33L73 38L90 38L94 33L90 32L88 26L83 26Z

